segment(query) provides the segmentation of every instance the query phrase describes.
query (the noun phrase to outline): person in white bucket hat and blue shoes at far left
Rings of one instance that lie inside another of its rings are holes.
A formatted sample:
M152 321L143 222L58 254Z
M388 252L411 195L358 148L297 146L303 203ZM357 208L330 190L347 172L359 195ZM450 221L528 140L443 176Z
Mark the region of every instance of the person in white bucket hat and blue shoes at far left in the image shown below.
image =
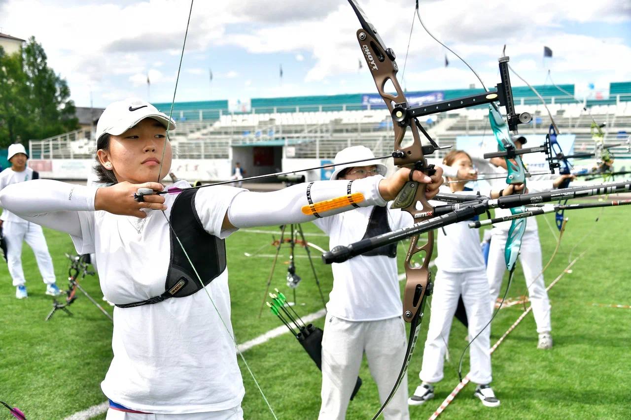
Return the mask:
M24 146L20 143L11 144L8 150L8 160L11 167L0 173L0 190L11 184L37 179L38 173L32 168L28 168L28 155ZM4 235L7 247L7 263L9 274L13 278L13 286L16 286L15 297L23 299L28 297L27 282L22 269L22 243L27 242L33 249L37 266L39 267L42 279L46 284L46 295L57 296L60 291L57 288L55 271L52 266L52 259L48 252L44 232L40 225L35 225L30 221L16 216L7 209L3 210L0 216L0 226Z

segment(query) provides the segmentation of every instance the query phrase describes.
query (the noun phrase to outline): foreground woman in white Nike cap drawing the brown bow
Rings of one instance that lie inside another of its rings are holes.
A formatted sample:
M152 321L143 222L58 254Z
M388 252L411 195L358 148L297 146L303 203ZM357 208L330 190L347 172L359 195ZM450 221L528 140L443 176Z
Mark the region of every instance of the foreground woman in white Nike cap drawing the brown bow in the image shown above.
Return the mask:
M69 233L80 254L97 256L103 295L117 306L114 358L101 384L110 400L107 419L240 419L245 390L230 324L225 238L239 228L314 220L302 207L355 192L363 195L357 206L384 206L410 170L266 193L215 186L138 202L141 188L165 190L156 181L170 170L172 129L174 120L148 102L112 103L97 124L95 166L109 186L28 181L6 187L0 201L28 221ZM427 184L428 199L441 175L411 174Z

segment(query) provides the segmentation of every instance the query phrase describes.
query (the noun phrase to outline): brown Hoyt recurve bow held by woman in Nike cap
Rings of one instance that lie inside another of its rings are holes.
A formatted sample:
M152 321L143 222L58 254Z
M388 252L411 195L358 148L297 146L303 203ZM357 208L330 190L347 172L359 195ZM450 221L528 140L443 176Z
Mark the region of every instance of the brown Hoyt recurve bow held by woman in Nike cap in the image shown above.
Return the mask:
M360 25L362 26L362 28L357 30L357 40L362 50L363 57L372 74L375 86L377 86L377 91L386 103L392 117L394 125L394 151L395 153L403 152L401 155L394 158L394 164L396 166L410 168L413 171L420 170L429 175L433 173L433 165L428 165L427 160L425 160L426 153L421 144L419 131L422 132L423 136L425 136L435 149L438 149L438 146L418 122L418 117L422 115L437 114L445 110L466 108L484 103L490 103L495 107L494 102L498 101L500 105L504 105L507 109L508 125L504 123L501 115L500 120L502 120L502 124L504 124L503 127L505 127L506 137L509 142L510 137L507 134L508 127L510 127L510 130L517 132L517 124L528 122L531 119L530 115L527 113L517 115L514 111L510 79L506 67L508 62L507 57L500 59L500 76L502 83L497 85L496 91L488 91L485 88L485 92L482 94L420 105L419 107L410 107L396 78L396 73L399 68L395 61L396 55L394 51L386 47L381 37L377 34L377 30L369 23L365 13L360 6L358 6L357 2L355 0L348 0L348 3L350 3L353 11L355 11L355 15L357 15ZM416 14L418 15L418 0L416 1ZM420 15L418 16L420 20ZM387 93L385 91L386 83L388 82L394 86L396 94ZM497 115L499 115L499 113L497 113ZM497 124L500 125L499 122L497 122ZM412 133L412 144L407 148L403 148L402 143L408 128ZM525 179L524 173L525 171L522 170L521 177L516 177L516 173L511 173L510 175L516 179L514 183L522 183ZM410 180L394 200L392 208L407 211L414 218L415 223L426 219L428 212L432 211L432 207L428 204L425 197L425 185ZM331 250L331 252L334 251L335 248ZM401 366L394 387L392 387L390 394L373 417L374 419L379 417L386 405L390 402L408 370L408 365L410 364L411 356L415 348L416 338L420 331L423 306L425 305L427 296L432 292L432 274L428 269L429 262L432 258L432 251L432 231L428 231L427 242L422 246L418 245L418 235L411 237L410 249L405 259L406 286L403 296L403 319L405 322L410 323L408 347L403 360L403 366ZM413 260L415 259L415 255L419 253L423 253L424 255L422 264L417 266L414 264Z

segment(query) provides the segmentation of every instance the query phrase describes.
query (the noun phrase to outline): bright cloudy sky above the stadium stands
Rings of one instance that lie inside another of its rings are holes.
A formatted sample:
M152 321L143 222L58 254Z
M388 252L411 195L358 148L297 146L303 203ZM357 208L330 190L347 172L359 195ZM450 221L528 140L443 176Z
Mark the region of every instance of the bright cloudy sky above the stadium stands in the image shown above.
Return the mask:
M423 30L414 0L359 1L396 52L408 91L480 87ZM190 7L190 0L0 0L0 32L34 36L83 107L129 96L171 102L174 91L177 102L376 93L365 63L358 66L360 25L346 0L194 1L175 90ZM435 0L421 1L420 14L487 86L499 82L504 45L511 67L532 85L549 83L548 69L579 95L589 84L606 90L631 81L628 0ZM553 58L543 59L544 46Z

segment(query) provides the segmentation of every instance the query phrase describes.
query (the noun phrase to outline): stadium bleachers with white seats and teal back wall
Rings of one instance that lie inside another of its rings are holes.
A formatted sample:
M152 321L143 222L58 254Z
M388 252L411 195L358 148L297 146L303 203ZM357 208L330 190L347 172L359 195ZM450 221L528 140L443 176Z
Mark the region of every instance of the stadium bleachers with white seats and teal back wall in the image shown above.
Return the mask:
M591 124L606 122L605 144L620 143L631 132L631 82L610 84L610 96L576 103L556 86L535 86L545 98L561 132L591 140ZM560 85L574 93L574 85ZM479 92L475 89L441 91L445 100ZM422 95L423 92L410 93ZM528 111L533 122L522 126L526 133L545 133L550 117L527 86L513 88L516 107ZM346 146L364 144L377 155L392 147L392 120L385 107L365 105L362 94L252 98L249 112L232 112L228 100L174 104L177 130L170 133L179 158L228 159L237 146L291 146L293 158L333 158ZM170 112L170 103L156 103ZM587 108L587 111L584 110ZM593 118L593 119L592 119ZM431 115L422 121L430 135L442 145L455 143L456 136L489 131L486 106L464 108ZM622 133L622 134L621 134ZM76 131L30 141L32 158L91 158L91 133ZM590 142L593 148L593 142Z

